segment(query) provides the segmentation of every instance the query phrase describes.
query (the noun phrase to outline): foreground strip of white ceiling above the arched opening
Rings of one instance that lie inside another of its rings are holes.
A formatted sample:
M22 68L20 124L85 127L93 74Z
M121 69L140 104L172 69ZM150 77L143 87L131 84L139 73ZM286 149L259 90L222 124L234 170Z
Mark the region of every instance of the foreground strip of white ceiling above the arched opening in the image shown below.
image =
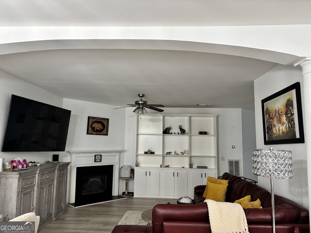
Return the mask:
M309 24L310 0L1 0L0 26Z

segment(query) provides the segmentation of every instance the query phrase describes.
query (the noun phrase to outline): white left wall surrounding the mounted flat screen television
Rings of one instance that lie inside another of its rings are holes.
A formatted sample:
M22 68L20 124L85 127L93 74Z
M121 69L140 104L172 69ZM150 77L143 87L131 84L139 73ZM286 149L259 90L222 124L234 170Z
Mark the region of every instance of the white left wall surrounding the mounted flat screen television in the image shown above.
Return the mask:
M4 131L7 122L7 116L10 107L11 95L17 95L32 100L48 103L54 106L62 107L63 98L45 91L33 84L27 83L0 70L0 143L2 146ZM57 152L60 154L60 161L66 152ZM0 152L0 157L5 161L10 161L17 157L45 163L47 160L52 161L52 154L55 152Z

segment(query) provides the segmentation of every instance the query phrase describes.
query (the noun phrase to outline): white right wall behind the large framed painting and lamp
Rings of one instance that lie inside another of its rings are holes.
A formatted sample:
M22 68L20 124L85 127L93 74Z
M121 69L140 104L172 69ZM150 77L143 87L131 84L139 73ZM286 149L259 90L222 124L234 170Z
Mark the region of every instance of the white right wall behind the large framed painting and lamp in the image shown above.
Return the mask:
M261 100L282 90L283 88L300 82L302 107L304 106L303 100L303 79L300 67L277 65L272 68L257 80L254 81L255 90L255 121L256 121L256 147L257 148L269 148L272 146L274 149L291 150L293 152L294 160L307 160L305 143L297 144L279 144L279 145L264 145L263 140L263 128L262 128L262 114L261 114ZM303 111L303 120L306 120ZM307 174L300 179L307 179ZM264 177L258 177L259 185L264 186L270 190L270 179ZM308 197L297 197L291 195L289 192L289 180L277 179L274 182L275 193L283 197L287 197L303 206L309 208Z

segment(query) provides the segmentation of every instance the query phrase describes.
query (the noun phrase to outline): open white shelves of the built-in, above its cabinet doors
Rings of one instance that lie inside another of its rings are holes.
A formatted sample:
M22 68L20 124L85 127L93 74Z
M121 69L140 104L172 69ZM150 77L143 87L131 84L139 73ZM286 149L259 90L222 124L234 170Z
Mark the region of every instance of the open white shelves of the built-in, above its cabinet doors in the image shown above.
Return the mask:
M139 166L189 168L191 163L194 168L207 166L217 169L216 121L217 115L209 114L138 116L136 160ZM180 134L179 125L186 134ZM163 134L164 129L170 126L172 134ZM199 134L200 131L208 134ZM145 154L147 150L155 154ZM187 150L187 155L181 154L184 150Z

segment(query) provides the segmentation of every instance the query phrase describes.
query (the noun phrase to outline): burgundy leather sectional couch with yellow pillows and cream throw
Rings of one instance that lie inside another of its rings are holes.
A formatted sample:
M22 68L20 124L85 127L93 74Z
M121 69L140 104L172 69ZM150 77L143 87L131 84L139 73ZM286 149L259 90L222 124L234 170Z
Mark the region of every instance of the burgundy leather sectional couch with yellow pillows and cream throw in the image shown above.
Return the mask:
M234 202L251 195L251 201L261 201L262 209L244 209L250 233L272 233L271 194L258 185L224 173L229 180L226 201ZM205 185L194 188L194 205L158 204L152 212L152 226L119 225L112 233L211 233L208 208L204 203ZM276 233L309 233L309 211L303 206L275 195Z

